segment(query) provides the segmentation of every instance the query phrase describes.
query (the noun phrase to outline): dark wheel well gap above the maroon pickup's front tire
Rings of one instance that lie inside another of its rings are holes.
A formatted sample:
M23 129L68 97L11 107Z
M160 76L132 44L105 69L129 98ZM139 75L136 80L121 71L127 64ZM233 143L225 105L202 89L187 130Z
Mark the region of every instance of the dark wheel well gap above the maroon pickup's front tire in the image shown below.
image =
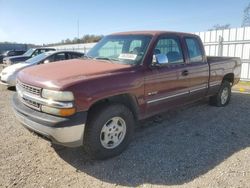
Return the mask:
M138 107L137 107L137 101L135 97L131 96L130 94L121 94L116 95L112 97L108 97L105 99L101 99L97 102L95 102L88 110L88 113L91 114L93 110L96 108L99 108L100 106L112 104L112 103L120 103L126 106L131 110L133 113L135 119L138 119Z

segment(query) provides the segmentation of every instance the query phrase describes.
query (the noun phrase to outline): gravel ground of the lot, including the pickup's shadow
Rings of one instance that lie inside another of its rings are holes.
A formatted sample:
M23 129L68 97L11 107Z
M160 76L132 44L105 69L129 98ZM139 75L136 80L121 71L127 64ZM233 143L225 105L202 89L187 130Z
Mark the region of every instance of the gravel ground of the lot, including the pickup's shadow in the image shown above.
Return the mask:
M250 187L250 95L141 122L124 153L92 161L23 128L13 93L0 86L0 187Z

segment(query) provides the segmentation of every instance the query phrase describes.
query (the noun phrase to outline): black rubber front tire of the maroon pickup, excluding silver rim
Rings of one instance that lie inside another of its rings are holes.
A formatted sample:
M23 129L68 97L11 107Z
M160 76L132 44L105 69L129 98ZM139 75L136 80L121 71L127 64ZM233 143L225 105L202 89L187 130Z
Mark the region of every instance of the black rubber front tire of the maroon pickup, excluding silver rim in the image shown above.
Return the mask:
M101 131L107 122L120 117L126 124L126 133L119 145L107 149L101 143ZM122 104L105 104L90 112L84 133L83 146L93 159L106 159L119 155L129 145L133 136L135 120L133 113Z

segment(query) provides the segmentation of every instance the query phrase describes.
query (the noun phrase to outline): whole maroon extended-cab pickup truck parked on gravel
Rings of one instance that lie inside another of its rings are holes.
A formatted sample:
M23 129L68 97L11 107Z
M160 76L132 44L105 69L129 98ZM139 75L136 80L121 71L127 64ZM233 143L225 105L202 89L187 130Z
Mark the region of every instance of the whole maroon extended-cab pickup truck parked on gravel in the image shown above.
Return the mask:
M193 34L116 33L82 59L21 71L12 105L28 129L104 159L126 148L137 120L204 97L226 106L240 70L239 58L206 57Z

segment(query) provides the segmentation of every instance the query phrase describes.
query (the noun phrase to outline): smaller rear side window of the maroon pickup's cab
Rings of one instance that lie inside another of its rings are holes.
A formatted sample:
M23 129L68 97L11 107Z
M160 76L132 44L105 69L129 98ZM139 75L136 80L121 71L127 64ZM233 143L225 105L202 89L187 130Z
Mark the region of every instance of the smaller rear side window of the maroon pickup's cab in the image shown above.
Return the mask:
M203 51L200 46L200 42L195 37L186 37L185 42L187 45L187 52L190 63L203 62Z

